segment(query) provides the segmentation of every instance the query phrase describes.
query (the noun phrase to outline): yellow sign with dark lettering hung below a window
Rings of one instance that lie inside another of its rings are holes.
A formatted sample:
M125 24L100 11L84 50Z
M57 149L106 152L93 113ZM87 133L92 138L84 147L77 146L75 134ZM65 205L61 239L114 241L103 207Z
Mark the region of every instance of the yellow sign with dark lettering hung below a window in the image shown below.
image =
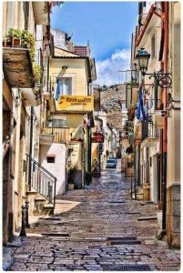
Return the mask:
M90 112L94 110L93 96L59 96L57 101L59 111Z

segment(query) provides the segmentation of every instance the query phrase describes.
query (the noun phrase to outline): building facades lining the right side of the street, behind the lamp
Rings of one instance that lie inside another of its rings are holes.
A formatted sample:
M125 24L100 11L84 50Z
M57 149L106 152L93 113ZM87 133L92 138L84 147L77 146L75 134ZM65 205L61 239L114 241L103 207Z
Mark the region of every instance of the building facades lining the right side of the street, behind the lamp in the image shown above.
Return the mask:
M132 76L127 85L127 131L134 137L137 198L158 204L159 238L167 235L168 244L174 247L180 245L179 10L178 2L138 4L138 25L132 35ZM141 73L137 86L133 85L133 73L140 70L136 56L142 47L150 54L146 73L169 73L171 85L165 85L161 77ZM144 113L139 116L140 96Z

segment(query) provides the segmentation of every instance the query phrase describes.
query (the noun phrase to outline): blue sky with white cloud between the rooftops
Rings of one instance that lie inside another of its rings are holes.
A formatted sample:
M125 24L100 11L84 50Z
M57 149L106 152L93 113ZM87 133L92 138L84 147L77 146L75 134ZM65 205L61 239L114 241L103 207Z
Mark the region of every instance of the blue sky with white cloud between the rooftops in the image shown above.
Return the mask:
M117 71L129 68L136 24L137 2L65 2L51 15L51 27L73 33L74 44L86 45L89 40L101 85L117 83Z

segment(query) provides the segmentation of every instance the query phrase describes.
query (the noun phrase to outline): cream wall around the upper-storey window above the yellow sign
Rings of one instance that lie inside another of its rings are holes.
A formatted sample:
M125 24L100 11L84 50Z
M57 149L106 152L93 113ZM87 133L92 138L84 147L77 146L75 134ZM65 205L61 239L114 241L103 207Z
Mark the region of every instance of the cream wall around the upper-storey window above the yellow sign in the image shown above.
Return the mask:
M50 76L75 76L76 85L72 86L72 95L87 96L85 62L85 59L51 59ZM66 71L62 69L62 66L68 67Z

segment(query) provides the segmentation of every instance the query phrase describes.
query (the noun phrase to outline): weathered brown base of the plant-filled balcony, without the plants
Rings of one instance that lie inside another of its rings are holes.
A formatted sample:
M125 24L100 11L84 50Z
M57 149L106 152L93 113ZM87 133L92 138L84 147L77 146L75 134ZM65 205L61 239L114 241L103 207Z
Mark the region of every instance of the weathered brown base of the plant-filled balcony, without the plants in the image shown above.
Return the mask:
M3 47L3 69L9 86L35 87L36 80L28 48Z

